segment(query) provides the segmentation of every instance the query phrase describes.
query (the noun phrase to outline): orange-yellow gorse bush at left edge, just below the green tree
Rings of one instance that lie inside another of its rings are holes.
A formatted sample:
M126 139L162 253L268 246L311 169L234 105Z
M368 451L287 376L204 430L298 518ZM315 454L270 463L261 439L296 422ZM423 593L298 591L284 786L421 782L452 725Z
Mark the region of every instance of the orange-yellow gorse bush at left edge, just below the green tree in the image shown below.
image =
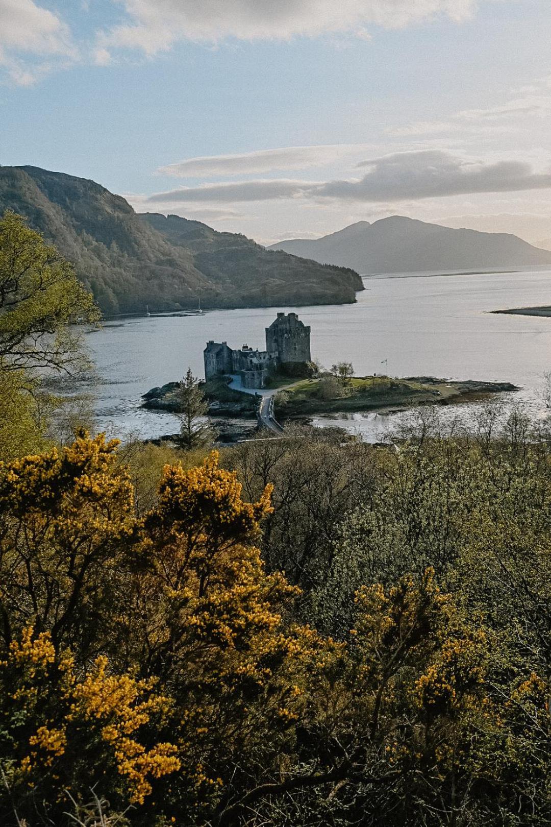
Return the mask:
M63 450L0 464L0 601L9 646L28 625L56 648L92 643L114 572L135 530L133 493L117 442L78 437ZM88 641L88 643L87 643Z

